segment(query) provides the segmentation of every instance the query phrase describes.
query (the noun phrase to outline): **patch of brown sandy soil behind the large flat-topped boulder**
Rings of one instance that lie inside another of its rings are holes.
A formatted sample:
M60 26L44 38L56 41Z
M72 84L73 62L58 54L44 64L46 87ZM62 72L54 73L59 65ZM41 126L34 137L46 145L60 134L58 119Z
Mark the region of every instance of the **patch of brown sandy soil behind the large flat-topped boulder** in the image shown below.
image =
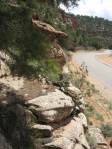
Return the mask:
M21 95L23 99L30 100L47 92L54 91L53 85L44 85L37 79L27 79L23 77L7 76L0 78L0 93L5 90L13 90L17 95ZM44 89L45 88L45 89Z

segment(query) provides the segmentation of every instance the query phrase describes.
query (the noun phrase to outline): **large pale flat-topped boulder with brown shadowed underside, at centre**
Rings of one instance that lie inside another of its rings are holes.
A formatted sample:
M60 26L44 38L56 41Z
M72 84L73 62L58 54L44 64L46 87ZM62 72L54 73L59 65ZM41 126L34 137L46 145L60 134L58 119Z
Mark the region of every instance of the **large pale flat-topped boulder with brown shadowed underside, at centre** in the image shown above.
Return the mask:
M74 109L72 98L57 89L45 96L29 100L27 104L41 121L47 123L65 119Z

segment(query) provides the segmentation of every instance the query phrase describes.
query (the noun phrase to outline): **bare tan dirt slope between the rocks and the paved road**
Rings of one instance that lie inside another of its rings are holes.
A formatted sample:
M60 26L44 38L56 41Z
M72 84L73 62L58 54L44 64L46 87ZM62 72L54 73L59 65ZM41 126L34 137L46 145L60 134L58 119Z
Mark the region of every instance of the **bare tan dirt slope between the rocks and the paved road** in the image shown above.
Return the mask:
M74 61L74 59L70 62L69 66L74 75L80 67L80 65L77 64L77 62ZM96 90L99 90L99 92L94 92L92 96L85 97L85 100L88 103L88 105L93 107L96 113L96 115L91 113L92 116L90 118L90 121L96 126L101 126L102 124L112 125L112 110L109 109L109 104L112 98L112 91L105 89L102 82L92 78L91 76L87 76L87 80L91 84L94 84Z

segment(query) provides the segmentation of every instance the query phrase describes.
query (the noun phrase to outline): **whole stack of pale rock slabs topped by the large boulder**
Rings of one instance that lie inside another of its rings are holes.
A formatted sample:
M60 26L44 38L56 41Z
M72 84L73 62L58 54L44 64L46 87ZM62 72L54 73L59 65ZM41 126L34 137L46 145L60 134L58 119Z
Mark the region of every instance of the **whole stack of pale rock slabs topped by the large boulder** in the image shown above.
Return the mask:
M38 124L31 126L36 149L89 149L84 134L87 120L83 113L73 114L74 99L56 89L27 102L38 117Z

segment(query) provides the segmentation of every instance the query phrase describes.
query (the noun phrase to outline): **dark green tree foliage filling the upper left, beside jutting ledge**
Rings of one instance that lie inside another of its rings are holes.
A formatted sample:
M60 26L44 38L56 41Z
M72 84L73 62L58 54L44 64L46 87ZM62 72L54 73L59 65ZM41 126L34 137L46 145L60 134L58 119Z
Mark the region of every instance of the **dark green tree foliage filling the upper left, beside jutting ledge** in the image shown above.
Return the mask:
M8 0L1 0L0 8L0 49L10 55L12 73L28 77L42 74L51 80L58 79L60 66L48 56L52 41L48 34L35 29L31 22L36 12L41 20L52 24L56 15L53 8L35 0L20 0L14 6L9 5Z

